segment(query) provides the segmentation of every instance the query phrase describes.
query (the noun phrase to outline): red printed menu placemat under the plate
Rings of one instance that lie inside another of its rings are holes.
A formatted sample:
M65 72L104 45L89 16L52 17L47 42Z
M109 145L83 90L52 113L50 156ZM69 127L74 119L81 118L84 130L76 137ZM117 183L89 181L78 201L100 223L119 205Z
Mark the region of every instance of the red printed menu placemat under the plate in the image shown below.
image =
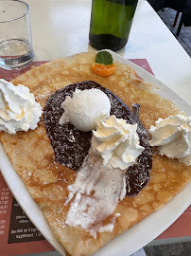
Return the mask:
M130 62L141 66L153 75L146 59L130 59ZM0 69L0 78L11 80L27 70L45 62L33 62L22 71ZM182 216L157 239L191 236L191 206ZM52 251L53 247L29 221L20 208L0 174L0 255L14 256L29 253Z

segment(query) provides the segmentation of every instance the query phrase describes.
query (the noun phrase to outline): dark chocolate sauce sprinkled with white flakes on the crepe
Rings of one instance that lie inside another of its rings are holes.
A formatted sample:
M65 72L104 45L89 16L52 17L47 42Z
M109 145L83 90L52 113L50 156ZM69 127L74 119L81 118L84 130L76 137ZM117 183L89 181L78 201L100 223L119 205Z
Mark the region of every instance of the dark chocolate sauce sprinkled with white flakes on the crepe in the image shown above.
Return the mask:
M145 147L142 155L136 160L126 173L127 188L126 194L136 195L148 183L149 173L152 167L151 147L148 143L148 132L139 120L138 104L134 105L133 113L130 108L117 98L111 91L102 87L96 82L86 81L68 85L56 91L46 101L43 110L43 119L46 133L51 140L55 151L55 159L61 165L78 171L91 146L92 132L81 132L71 122L59 124L59 119L63 113L61 103L66 96L73 96L76 89L85 90L97 88L103 91L111 101L111 115L118 119L126 119L128 123L137 123L137 133L141 146ZM88 107L88 106L87 106Z

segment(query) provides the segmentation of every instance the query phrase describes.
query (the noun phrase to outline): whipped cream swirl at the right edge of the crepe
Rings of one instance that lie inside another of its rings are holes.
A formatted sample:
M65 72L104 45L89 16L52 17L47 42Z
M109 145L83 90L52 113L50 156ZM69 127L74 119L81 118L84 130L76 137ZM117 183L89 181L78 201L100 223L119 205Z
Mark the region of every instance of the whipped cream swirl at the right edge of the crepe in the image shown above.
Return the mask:
M191 165L191 118L182 115L158 119L149 132L149 143L158 146L160 155L178 158L180 162Z

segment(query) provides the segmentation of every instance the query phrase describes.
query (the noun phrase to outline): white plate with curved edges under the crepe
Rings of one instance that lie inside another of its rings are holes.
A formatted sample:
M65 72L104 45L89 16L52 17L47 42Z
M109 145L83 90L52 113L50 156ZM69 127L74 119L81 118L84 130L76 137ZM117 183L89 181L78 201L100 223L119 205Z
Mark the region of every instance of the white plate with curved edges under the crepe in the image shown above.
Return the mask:
M158 93L170 101L174 101L175 104L184 111L187 115L191 116L191 106L188 102L184 101L179 95L174 91L169 89L164 83L158 81L152 75L150 75L146 70L137 66L136 64L130 63L114 53L112 53L113 59L123 63L129 64L137 74L142 77L146 82L151 82L159 87ZM1 172L9 185L9 189L13 196L20 204L22 209L26 212L26 215L31 220L31 222L42 232L44 238L57 249L61 255L65 255L64 249L61 247L60 243L55 239L51 232L45 218L43 217L43 212L40 210L38 205L31 198L29 192L27 192L23 181L20 179L18 174L13 170L8 156L5 154L2 145L0 144L0 169ZM144 247L151 240L157 237L165 229L167 229L186 208L190 205L190 193L191 193L191 182L176 195L169 203L165 205L161 210L157 210L140 223L135 225L130 230L126 231L124 234L115 238L107 246L98 250L95 256L128 256L137 249Z

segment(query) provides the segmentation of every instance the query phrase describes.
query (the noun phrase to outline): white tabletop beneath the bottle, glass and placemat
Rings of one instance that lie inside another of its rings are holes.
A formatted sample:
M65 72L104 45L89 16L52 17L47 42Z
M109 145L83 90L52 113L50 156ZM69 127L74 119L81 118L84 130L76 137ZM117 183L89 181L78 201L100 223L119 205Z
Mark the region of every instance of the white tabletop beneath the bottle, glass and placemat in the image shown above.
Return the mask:
M34 61L96 51L88 37L91 0L26 0L26 3L30 9ZM191 59L146 0L139 0L127 46L116 53L125 59L147 59L155 77L191 103Z

